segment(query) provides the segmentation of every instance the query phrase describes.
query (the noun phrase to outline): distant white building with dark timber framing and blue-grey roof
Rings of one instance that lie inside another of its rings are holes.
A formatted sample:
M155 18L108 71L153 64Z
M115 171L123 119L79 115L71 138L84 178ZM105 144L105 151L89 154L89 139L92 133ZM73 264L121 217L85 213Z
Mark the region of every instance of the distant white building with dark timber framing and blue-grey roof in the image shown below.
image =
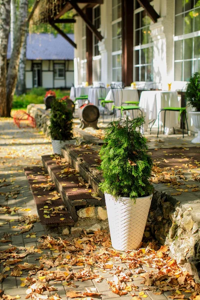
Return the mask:
M73 39L73 34L69 34ZM26 88L70 88L74 82L73 47L59 34L27 35ZM10 58L10 40L7 58Z

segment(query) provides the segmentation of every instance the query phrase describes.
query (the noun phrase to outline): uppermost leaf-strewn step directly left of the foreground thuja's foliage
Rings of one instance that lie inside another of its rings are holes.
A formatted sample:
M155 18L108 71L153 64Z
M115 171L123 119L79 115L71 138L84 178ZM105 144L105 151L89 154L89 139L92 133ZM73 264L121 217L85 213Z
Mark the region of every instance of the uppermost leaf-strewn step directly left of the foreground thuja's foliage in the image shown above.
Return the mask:
M98 188L102 181L101 171L98 170L100 165L99 150L100 146L98 145L65 145L61 149L61 153L94 191L104 199L103 192Z

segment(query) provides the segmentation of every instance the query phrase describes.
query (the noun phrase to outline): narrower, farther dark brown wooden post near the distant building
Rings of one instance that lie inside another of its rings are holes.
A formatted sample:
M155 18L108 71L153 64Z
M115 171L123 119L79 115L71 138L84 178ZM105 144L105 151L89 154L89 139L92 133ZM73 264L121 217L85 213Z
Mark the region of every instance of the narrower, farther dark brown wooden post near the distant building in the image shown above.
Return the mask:
M85 14L87 18L92 22L92 8L86 8ZM91 30L86 26L86 59L87 59L87 72L86 80L92 84L92 50L93 50L93 36Z

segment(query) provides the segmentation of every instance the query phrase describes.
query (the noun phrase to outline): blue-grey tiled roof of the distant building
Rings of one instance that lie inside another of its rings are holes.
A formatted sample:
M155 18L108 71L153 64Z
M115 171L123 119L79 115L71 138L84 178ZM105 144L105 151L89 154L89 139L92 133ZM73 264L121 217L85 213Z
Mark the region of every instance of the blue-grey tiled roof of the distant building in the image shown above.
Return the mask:
M73 40L73 34L67 34ZM26 59L64 59L74 57L74 48L60 34L29 33L27 35ZM10 58L10 37L8 39L7 58Z

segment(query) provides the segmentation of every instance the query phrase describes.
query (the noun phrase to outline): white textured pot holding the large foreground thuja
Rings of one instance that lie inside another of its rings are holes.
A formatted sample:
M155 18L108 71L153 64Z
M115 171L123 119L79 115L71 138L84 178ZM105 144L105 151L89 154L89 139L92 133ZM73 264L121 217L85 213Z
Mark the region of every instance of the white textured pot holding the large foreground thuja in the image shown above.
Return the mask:
M125 197L116 200L112 195L105 193L109 231L114 249L137 249L142 240L151 198L152 195L136 198L135 201Z

